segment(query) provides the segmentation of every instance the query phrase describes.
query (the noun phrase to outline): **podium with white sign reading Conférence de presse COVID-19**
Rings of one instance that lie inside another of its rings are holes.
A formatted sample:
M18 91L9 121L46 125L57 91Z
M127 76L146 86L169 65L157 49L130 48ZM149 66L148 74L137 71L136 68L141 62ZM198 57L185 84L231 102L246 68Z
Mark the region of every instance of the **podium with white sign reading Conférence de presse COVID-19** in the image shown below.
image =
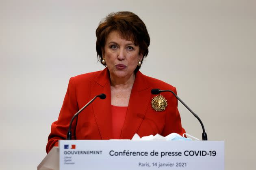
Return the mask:
M224 141L59 140L37 170L224 170Z

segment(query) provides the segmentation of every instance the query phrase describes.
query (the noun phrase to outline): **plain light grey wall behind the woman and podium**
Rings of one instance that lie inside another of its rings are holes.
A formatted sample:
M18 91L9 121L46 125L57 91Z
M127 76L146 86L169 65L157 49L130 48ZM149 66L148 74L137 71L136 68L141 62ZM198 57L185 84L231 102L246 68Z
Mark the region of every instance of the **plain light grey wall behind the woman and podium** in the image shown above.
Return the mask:
M69 77L102 70L95 29L132 11L150 34L141 72L178 89L225 140L226 170L255 168L255 0L0 0L0 169L32 170L46 155ZM198 121L179 104L187 133Z

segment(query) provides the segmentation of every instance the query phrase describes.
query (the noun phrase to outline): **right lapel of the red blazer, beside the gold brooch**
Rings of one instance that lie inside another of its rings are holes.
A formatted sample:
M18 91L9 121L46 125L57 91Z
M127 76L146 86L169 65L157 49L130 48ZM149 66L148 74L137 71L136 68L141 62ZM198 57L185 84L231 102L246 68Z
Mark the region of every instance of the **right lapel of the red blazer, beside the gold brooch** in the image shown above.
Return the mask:
M150 96L151 92L145 76L138 71L132 87L120 139L131 139L138 131L150 103Z

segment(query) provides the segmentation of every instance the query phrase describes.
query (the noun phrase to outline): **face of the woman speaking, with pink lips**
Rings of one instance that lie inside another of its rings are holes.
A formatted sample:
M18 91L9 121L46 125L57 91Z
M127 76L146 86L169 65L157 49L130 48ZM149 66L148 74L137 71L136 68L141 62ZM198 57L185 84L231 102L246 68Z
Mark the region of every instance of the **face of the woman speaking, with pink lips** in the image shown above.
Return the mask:
M130 79L143 54L139 54L139 46L132 41L121 38L117 31L108 34L103 51L103 58L110 72L111 79Z

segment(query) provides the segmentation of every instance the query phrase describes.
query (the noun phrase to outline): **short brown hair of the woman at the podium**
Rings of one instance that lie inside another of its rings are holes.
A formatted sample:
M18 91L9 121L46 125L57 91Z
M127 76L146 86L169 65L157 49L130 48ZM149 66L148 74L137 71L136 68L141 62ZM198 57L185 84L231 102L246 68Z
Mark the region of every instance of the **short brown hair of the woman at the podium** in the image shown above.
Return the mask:
M102 50L104 49L108 34L112 31L119 31L122 38L133 40L135 45L139 45L139 53L143 53L143 59L148 55L150 36L145 23L137 15L129 11L110 13L100 22L96 29L96 51L101 64L103 59ZM137 66L135 72L139 68L140 66Z

